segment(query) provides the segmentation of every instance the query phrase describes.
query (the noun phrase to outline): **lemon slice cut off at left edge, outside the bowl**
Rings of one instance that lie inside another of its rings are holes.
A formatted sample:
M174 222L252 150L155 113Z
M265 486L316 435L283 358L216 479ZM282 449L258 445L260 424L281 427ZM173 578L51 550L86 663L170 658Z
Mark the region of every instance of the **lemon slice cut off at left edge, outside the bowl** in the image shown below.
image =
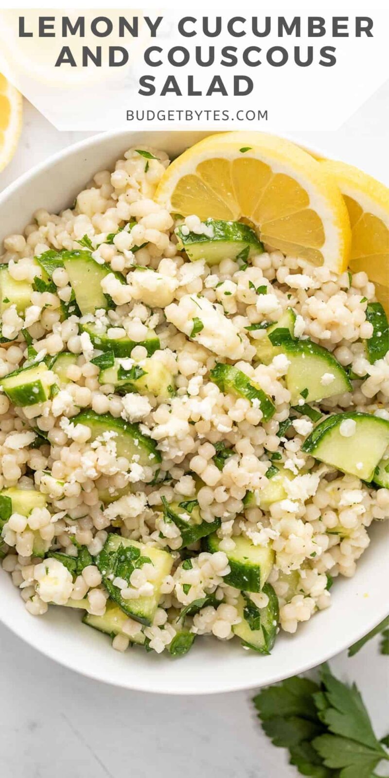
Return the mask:
M0 73L0 170L15 152L22 128L22 95Z

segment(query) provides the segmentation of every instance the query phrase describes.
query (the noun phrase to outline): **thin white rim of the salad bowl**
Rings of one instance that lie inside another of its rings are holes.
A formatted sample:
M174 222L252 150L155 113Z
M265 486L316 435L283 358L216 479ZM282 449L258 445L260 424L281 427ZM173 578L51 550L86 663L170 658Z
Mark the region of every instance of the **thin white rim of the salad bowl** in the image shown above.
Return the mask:
M37 163L37 165L34 165L30 170L27 170L25 173L20 175L16 178L15 181L12 181L11 184L9 184L5 189L0 193L0 208L3 205L3 203L12 196L16 191L18 191L19 187L23 187L23 184L25 184L27 181L32 179L33 177L39 175L40 173L44 173L45 170L49 170L52 166L54 166L56 163L60 162L62 159L66 159L67 157L71 157L76 152L82 151L82 149L89 149L90 146L93 146L95 144L99 144L100 142L107 141L107 143L110 142L110 140L116 140L117 138L120 138L123 136L123 139L128 135L129 139L131 140L131 135L138 134L142 130L138 129L136 131L131 130L114 130L114 131L106 131L106 132L98 132L95 135L91 135L88 138L83 138L82 140L72 143L68 146L65 146L64 149L60 149L58 152L55 152L51 156L49 156L47 159L44 159L43 162ZM242 131L244 131L244 128L242 128ZM199 136L205 137L207 135L213 135L216 134L216 132L219 131L192 131L192 130L145 130L145 133L149 135L195 135L197 134ZM278 133L275 133L278 135ZM282 138L286 138L290 140L291 142L295 143L296 145L299 145L296 141L295 136L288 135L288 133L282 133L280 135ZM301 147L307 151L307 152L313 152L314 154L320 155L321 157L325 157L326 153L323 148L317 148L316 145L309 145L307 146L305 143L301 145ZM329 155L333 156L333 155ZM50 660L54 661L56 664L59 664L68 670L74 671L78 673L79 675L85 676L86 678L91 678L94 681L99 681L102 683L106 683L109 685L114 685L119 689L128 689L128 690L134 690L138 692L147 692L152 694L166 694L166 695L172 695L172 696L183 696L183 695L208 695L208 694L223 694L226 692L236 692L238 690L245 690L245 689L253 689L259 688L261 685L272 685L277 682L280 682L284 680L285 678L290 678L291 672L292 675L300 675L300 673L304 673L309 671L312 668L317 667L318 665L322 664L325 661L328 661L331 659L331 657L334 657L337 654L340 654L343 650L348 648L352 643L355 643L357 640L359 640L361 637L365 636L367 633L370 632L371 629L374 629L375 626L377 626L383 619L386 618L387 615L389 615L389 606L387 604L382 603L382 607L378 608L379 615L377 615L377 612L375 612L375 615L370 619L370 621L367 623L364 622L363 629L359 628L358 633L352 636L351 640L348 639L346 636L343 640L340 640L338 644L336 644L335 648L328 648L328 650L324 650L322 654L317 654L317 656L314 657L314 661L312 660L305 660L301 661L300 664L297 664L295 668L293 668L293 671L288 671L287 669L282 671L273 671L272 674L269 674L268 677L265 679L263 683L261 681L257 682L249 682L249 681L239 681L235 680L233 682L229 681L226 682L223 686L223 688L219 688L219 686L212 688L212 682L209 682L209 689L202 689L202 688L196 688L195 683L191 685L180 685L180 688L151 688L146 687L144 683L137 682L137 678L131 678L131 681L126 681L125 678L121 679L114 679L114 678L108 678L107 676L104 677L103 671L94 670L92 667L87 668L79 668L74 666L72 664L72 657L58 657L55 653L55 650L51 650L50 646L47 646L44 644L43 640L37 638L37 636L30 636L26 633L26 630L23 629L23 626L19 626L19 624L15 624L12 622L12 618L10 618L9 615L12 614L12 611L7 613L0 613L0 622L6 626L10 632L12 632L14 635L19 637L21 640L23 640L24 643L26 643L28 646L33 647L34 650L37 650L40 652L40 654L43 654L45 657L49 658ZM97 668L100 668L101 665L97 665Z

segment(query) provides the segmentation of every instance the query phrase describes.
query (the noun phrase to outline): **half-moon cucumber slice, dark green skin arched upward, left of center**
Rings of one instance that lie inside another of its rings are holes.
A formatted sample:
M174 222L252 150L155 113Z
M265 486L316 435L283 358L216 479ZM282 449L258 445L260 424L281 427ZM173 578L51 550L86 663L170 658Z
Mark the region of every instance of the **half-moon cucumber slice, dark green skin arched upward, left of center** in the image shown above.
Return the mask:
M161 461L161 455L156 450L156 443L143 435L138 424L124 422L124 419L115 419L110 413L98 414L94 411L83 411L73 417L75 424L85 424L89 427L92 436L90 440L96 440L104 433L113 432L116 452L118 457L126 457L128 461L135 461L144 466L153 465Z

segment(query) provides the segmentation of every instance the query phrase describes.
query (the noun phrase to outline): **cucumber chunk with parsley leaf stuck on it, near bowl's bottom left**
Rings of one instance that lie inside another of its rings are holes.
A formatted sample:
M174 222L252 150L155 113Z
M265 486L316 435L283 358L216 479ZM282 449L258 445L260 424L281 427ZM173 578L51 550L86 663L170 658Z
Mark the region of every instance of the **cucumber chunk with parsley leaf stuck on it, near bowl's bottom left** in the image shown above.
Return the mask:
M142 567L146 560L156 568L156 577L152 580L153 593L149 597L141 596L138 599L124 600L121 597L121 590L113 583L114 578L122 578L128 582L128 586L131 586L129 583L131 573L136 567ZM110 533L103 550L96 556L96 565L103 576L103 584L110 598L124 613L131 616L131 619L149 626L158 607L159 588L165 576L170 573L173 557L159 548Z

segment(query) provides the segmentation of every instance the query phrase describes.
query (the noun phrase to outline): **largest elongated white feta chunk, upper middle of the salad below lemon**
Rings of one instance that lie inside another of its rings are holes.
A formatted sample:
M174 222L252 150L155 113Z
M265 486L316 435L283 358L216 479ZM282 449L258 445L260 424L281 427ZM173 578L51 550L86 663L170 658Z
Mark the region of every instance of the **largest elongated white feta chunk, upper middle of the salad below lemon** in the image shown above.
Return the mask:
M219 305L210 303L205 297L183 295L179 303L166 307L165 314L167 321L187 336L191 335L193 320L200 319L203 326L195 340L218 356L241 359L244 355L244 343L233 322L227 319Z

